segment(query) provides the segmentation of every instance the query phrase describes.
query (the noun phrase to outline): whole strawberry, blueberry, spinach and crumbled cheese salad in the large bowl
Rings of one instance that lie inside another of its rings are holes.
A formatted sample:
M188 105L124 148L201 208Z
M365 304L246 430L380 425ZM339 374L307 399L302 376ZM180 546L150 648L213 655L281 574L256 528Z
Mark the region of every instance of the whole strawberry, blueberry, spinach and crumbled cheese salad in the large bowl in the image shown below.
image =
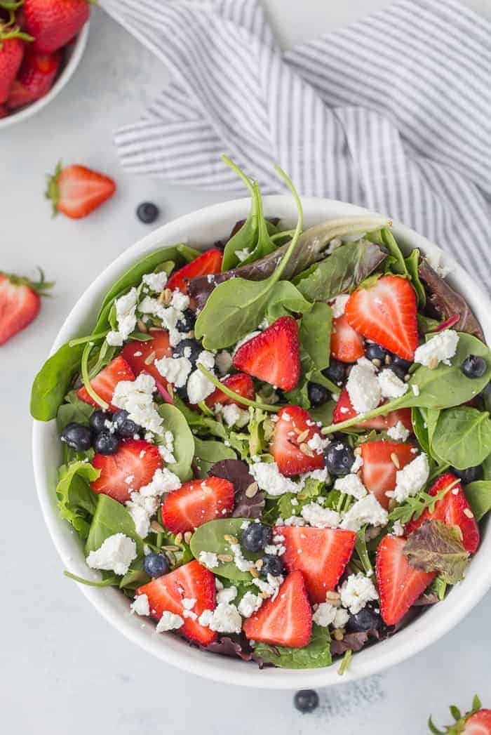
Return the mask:
M396 633L465 575L491 508L491 353L461 295L377 216L250 212L142 257L53 354L60 516L83 584L156 634L287 668ZM90 572L98 570L98 573ZM244 664L245 665L245 664Z

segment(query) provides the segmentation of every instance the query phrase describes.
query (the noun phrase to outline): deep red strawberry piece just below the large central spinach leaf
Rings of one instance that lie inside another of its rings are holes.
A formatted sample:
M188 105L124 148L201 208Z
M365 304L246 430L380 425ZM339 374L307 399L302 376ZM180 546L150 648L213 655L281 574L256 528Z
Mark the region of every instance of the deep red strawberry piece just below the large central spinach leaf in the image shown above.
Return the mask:
M233 367L281 390L293 390L300 377L299 329L293 317L280 317L241 345Z

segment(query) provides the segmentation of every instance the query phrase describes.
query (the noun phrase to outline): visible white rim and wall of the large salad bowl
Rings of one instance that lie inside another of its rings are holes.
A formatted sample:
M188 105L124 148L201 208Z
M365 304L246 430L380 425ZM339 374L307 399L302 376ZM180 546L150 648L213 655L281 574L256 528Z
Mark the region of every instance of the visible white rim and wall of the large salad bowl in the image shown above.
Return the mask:
M367 214L367 210L361 207L326 199L303 198L302 204L305 226L329 218ZM103 295L139 257L163 245L174 245L183 241L204 250L216 240L227 236L236 221L247 217L249 208L249 199L206 207L167 223L139 240L103 270L87 288L65 320L51 351L55 351L70 338L87 334ZM297 220L294 200L289 196L265 197L264 210L266 216L280 217L287 226L294 226ZM467 299L481 322L487 343L491 343L491 304L468 273L451 257L443 254L440 248L407 227L395 223L393 232L407 252L412 248L420 248L423 254L440 256L443 265L451 268L448 282ZM87 574L83 549L76 534L57 512L54 488L57 484L61 451L54 420L48 423L34 421L32 451L37 494L48 531L65 568L83 577ZM335 665L311 670L267 667L259 670L252 662L246 663L199 650L176 636L156 634L154 623L129 613L129 601L117 589L85 585L79 587L110 625L148 653L183 670L240 686L271 689L335 686L373 675L408 659L448 633L479 603L491 587L491 566L488 561L491 557L489 523L484 523L481 530L481 547L468 568L465 580L454 587L445 600L431 606L396 635L357 653L343 677L338 675ZM67 584L73 582L67 581Z

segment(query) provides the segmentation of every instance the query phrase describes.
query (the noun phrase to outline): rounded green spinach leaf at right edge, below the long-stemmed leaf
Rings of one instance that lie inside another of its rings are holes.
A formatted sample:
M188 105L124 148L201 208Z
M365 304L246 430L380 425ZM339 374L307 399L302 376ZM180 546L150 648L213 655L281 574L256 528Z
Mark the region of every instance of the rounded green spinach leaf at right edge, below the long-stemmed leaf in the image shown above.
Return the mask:
M457 406L440 413L432 448L448 465L465 470L481 465L491 453L491 420L487 412Z

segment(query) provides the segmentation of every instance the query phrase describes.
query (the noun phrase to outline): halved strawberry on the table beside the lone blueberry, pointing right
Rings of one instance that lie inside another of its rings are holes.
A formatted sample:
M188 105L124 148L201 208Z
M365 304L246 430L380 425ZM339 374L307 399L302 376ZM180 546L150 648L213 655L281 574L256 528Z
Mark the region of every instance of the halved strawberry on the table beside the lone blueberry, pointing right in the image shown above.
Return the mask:
M86 166L57 165L53 176L48 176L45 196L53 204L53 214L61 212L78 220L101 207L116 191L114 181Z

